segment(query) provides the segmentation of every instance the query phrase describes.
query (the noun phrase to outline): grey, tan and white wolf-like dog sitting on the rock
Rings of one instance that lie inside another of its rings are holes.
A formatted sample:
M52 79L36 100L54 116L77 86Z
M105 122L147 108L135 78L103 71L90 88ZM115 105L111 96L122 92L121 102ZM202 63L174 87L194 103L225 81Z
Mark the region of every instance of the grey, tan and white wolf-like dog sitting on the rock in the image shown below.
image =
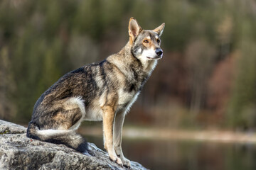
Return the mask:
M164 23L154 30L143 30L130 18L128 30L129 41L122 50L102 62L68 72L38 98L27 137L86 153L87 142L75 130L82 120L102 120L104 147L110 159L130 166L122 153L122 125L163 56L160 36Z

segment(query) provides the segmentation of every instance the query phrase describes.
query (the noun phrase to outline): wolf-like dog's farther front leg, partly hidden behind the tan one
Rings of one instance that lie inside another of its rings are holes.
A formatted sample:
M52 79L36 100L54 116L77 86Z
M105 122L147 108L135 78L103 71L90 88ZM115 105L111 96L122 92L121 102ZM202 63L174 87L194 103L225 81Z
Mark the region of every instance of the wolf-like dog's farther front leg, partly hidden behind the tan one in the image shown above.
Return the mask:
M124 157L124 154L122 152L122 127L124 124L124 117L125 113L119 112L114 119L114 150L122 160L124 166L130 167L130 161Z

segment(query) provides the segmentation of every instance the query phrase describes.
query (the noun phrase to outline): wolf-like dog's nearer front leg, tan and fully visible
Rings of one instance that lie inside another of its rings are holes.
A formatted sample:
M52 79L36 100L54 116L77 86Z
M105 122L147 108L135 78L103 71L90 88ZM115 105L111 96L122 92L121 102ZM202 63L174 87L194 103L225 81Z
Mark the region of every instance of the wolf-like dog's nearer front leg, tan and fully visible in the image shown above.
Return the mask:
M102 106L102 111L104 147L107 150L112 161L116 161L117 164L123 165L121 159L117 157L113 145L114 109L111 106Z

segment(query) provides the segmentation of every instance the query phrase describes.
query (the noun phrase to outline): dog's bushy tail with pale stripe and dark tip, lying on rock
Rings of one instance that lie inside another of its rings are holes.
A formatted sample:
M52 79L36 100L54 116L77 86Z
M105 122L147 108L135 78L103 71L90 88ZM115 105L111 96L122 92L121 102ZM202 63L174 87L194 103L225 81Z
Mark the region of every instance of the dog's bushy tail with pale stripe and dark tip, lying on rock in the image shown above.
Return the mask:
M74 130L39 130L36 123L29 123L27 137L55 144L63 144L78 152L87 152L88 146L85 138Z

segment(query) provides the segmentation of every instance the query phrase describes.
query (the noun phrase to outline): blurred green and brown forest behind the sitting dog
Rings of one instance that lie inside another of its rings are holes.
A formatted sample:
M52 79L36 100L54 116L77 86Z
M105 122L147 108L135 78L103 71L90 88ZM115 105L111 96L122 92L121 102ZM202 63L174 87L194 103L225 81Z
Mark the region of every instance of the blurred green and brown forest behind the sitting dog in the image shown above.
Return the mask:
M2 0L0 119L27 124L63 74L121 50L131 16L166 28L126 124L256 128L255 0Z

